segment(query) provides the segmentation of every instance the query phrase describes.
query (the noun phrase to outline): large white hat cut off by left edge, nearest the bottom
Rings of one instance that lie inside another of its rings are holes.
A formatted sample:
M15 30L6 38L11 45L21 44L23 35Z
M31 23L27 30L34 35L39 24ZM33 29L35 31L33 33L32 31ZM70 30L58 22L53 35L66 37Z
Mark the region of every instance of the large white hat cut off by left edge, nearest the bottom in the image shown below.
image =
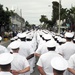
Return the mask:
M0 54L0 65L6 65L11 63L13 60L13 55L10 53L2 53Z

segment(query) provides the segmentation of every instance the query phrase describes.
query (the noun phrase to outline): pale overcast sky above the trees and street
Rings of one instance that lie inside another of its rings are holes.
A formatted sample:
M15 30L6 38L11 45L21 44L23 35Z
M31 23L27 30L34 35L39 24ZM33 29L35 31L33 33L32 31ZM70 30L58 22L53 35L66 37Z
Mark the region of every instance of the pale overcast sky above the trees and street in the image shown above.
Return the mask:
M15 9L15 12L20 14L21 9L22 17L31 24L40 24L39 18L41 15L46 15L51 19L53 0L0 0L0 4L8 7L10 10ZM59 1L59 0L57 0ZM61 0L63 8L71 8L75 6L75 0Z

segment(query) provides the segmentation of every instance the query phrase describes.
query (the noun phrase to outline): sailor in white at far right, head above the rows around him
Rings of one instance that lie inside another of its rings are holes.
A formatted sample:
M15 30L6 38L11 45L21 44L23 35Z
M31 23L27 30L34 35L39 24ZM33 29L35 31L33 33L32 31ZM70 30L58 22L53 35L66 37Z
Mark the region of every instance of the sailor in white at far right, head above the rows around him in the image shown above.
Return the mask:
M55 50L59 54L61 54L66 60L68 60L70 56L75 53L75 44L72 41L73 37L74 37L73 33L66 32L65 33L66 43L60 45L59 51L58 48L56 48Z

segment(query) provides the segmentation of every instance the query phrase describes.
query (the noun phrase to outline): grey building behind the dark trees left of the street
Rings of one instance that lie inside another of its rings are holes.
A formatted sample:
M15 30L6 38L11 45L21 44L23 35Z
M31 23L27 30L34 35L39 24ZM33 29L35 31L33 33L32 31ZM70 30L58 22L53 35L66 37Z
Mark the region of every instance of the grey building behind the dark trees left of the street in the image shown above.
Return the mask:
M24 30L25 20L21 16L19 16L17 13L14 13L13 15L11 15L10 20L11 20L10 28L12 31Z

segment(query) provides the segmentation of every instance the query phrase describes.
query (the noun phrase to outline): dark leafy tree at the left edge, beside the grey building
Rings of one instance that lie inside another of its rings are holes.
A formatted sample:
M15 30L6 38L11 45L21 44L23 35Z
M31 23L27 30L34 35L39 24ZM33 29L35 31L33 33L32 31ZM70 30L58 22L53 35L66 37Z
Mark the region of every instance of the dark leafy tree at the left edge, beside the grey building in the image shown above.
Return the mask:
M10 24L10 11L6 7L6 10L3 9L3 5L0 4L0 35L2 33L2 27L4 30L9 30Z

